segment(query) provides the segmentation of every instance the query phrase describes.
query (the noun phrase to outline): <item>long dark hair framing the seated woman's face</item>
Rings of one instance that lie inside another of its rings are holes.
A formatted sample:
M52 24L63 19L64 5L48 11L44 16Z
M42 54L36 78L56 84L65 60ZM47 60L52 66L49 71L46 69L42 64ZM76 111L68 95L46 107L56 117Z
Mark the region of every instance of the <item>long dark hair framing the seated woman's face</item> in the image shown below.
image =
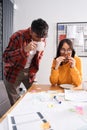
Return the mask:
M70 39L63 39L63 40L61 40L61 41L59 42L59 45L58 45L58 47L57 47L57 54L56 54L56 57L55 57L55 58L57 58L57 57L59 57L59 56L61 55L61 54L60 54L60 50L61 50L61 48L62 48L62 46L63 46L64 43L67 43L67 44L69 45L70 49L72 50L72 57L75 56L75 50L74 50L74 48L73 48L73 43L72 43L72 41L71 41Z

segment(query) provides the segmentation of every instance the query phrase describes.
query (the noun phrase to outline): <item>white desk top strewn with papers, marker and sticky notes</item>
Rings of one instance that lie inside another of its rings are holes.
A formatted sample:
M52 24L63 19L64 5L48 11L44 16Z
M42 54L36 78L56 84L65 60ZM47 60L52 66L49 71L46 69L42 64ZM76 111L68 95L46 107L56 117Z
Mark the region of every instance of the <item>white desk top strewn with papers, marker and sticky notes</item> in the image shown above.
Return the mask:
M37 91L41 91L40 86L36 87ZM35 92L36 89L30 91ZM87 130L87 117L84 118L86 115L83 111L87 112L87 103L65 101L64 93L58 93L58 91L41 92L38 94L27 93L23 97L9 113L10 116L14 116L15 121L22 125L20 130L24 130L24 128L27 128L26 130L43 130L43 119L51 125L51 128L48 130ZM53 100L54 95L62 101L61 104ZM37 112L40 112L43 118L40 119ZM25 122L25 124L22 122ZM83 128L81 129L81 127ZM0 130L8 130L7 117L0 123ZM17 130L19 129L17 128Z

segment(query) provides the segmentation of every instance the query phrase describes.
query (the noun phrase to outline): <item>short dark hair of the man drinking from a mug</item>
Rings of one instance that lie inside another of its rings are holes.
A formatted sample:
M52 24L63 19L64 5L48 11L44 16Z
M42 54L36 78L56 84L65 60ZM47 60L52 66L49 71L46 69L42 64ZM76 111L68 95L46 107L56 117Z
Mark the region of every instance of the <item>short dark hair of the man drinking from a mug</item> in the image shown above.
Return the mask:
M31 30L35 32L38 37L47 37L49 26L43 19L39 18L31 23Z

